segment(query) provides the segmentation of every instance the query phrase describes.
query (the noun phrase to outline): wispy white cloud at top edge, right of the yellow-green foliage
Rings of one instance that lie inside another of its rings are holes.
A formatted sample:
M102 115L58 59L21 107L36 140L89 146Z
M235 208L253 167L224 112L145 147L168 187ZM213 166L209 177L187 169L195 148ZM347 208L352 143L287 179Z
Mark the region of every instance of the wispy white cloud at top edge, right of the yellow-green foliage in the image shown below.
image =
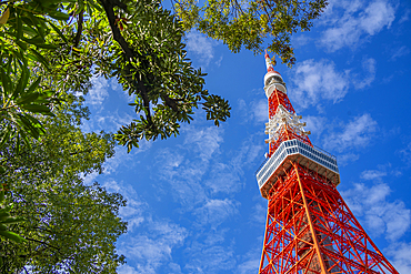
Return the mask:
M320 43L329 51L337 51L343 47L357 48L365 38L390 28L395 8L387 0L370 1L367 7L362 1L354 1L352 6L347 1L333 1L327 16L337 19L328 20L333 27L324 31Z

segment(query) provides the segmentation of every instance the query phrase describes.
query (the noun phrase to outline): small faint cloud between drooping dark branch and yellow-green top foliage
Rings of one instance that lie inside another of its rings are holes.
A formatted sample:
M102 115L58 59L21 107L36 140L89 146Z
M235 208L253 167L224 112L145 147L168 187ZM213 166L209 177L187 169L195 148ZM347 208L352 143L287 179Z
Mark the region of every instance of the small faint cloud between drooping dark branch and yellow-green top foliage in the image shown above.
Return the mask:
M189 32L186 38L189 54L192 52L200 59L201 67L207 67L214 58L214 41L199 32Z

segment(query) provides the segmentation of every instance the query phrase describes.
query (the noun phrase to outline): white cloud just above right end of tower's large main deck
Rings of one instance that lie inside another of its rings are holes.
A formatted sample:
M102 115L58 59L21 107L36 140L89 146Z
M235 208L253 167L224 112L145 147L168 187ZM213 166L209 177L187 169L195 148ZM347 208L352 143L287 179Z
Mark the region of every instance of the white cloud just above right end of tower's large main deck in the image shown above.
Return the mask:
M369 144L372 133L377 130L377 122L365 113L342 126L340 133L331 133L324 140L324 148L343 152L347 149L363 148Z

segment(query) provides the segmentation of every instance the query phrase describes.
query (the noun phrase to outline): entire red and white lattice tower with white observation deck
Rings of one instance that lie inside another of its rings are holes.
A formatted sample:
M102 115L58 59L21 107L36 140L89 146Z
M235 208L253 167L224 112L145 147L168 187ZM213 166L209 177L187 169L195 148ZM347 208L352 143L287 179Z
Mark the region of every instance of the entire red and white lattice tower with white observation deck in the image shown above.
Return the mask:
M398 273L337 191L337 159L312 145L267 53L265 62L269 153L257 181L268 214L259 273Z

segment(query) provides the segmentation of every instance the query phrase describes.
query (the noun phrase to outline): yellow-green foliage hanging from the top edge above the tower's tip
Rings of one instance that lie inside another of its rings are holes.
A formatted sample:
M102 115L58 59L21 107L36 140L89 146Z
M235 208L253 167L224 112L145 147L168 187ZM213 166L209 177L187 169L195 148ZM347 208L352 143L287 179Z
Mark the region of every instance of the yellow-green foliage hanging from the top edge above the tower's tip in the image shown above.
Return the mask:
M201 6L202 4L202 6ZM309 31L327 0L196 0L176 1L174 8L186 30L196 28L222 40L231 51L241 47L261 53L264 41L289 67L295 58L291 34Z

